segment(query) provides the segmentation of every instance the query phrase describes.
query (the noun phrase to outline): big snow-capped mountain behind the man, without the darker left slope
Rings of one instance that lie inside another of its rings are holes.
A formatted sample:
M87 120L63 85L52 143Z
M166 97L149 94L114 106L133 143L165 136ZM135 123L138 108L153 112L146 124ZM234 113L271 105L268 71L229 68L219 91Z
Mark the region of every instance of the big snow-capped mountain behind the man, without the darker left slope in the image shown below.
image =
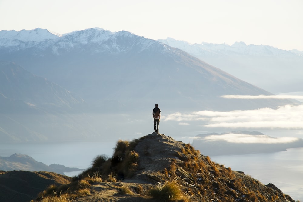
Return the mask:
M184 51L127 31L75 31L52 43L41 42L18 51L1 48L0 53L2 58L18 62L86 101L103 106L121 103L119 110L123 106L144 108L143 104L155 96L170 109L187 105L194 110L230 110L289 103L277 100L247 103L220 98L224 94L270 93Z

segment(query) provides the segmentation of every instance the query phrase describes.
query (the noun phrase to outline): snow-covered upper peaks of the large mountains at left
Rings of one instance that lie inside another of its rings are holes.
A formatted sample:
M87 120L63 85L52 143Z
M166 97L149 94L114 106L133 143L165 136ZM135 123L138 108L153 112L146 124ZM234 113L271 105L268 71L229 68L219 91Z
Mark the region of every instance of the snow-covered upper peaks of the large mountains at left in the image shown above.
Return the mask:
M153 46L158 44L159 46ZM158 41L135 35L128 31L111 32L102 28L89 28L59 35L48 30L1 31L0 47L9 48L9 51L25 50L35 47L35 52L49 50L60 55L75 49L83 51L87 47L95 52L127 52L129 50L141 52L150 48L161 48ZM157 49L158 49L157 48Z

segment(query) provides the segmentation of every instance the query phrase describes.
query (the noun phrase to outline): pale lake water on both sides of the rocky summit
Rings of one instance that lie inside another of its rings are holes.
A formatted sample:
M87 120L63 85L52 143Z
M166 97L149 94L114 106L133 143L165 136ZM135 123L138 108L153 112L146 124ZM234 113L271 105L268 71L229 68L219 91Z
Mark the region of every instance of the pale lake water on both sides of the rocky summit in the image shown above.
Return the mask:
M116 142L65 142L45 144L1 144L0 156L26 154L44 164L86 169L100 154L112 156ZM268 154L210 156L212 161L243 171L263 184L272 183L294 200L303 201L303 148ZM65 173L68 176L79 172Z

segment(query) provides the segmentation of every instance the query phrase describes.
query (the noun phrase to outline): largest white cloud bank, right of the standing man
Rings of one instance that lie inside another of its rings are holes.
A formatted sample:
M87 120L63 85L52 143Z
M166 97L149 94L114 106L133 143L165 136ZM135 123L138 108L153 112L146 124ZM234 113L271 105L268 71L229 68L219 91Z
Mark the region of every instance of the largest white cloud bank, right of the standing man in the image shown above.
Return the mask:
M303 105L285 105L277 109L261 108L235 111L176 112L164 121L201 121L205 127L303 129Z

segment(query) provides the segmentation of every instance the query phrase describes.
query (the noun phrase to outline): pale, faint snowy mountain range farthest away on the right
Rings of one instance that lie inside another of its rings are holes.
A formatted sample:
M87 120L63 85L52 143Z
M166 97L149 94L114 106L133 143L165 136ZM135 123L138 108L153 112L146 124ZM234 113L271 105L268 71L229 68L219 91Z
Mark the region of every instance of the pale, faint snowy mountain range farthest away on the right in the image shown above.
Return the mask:
M173 38L159 39L180 48L244 81L273 93L303 91L303 51L281 50L268 45L190 44Z

